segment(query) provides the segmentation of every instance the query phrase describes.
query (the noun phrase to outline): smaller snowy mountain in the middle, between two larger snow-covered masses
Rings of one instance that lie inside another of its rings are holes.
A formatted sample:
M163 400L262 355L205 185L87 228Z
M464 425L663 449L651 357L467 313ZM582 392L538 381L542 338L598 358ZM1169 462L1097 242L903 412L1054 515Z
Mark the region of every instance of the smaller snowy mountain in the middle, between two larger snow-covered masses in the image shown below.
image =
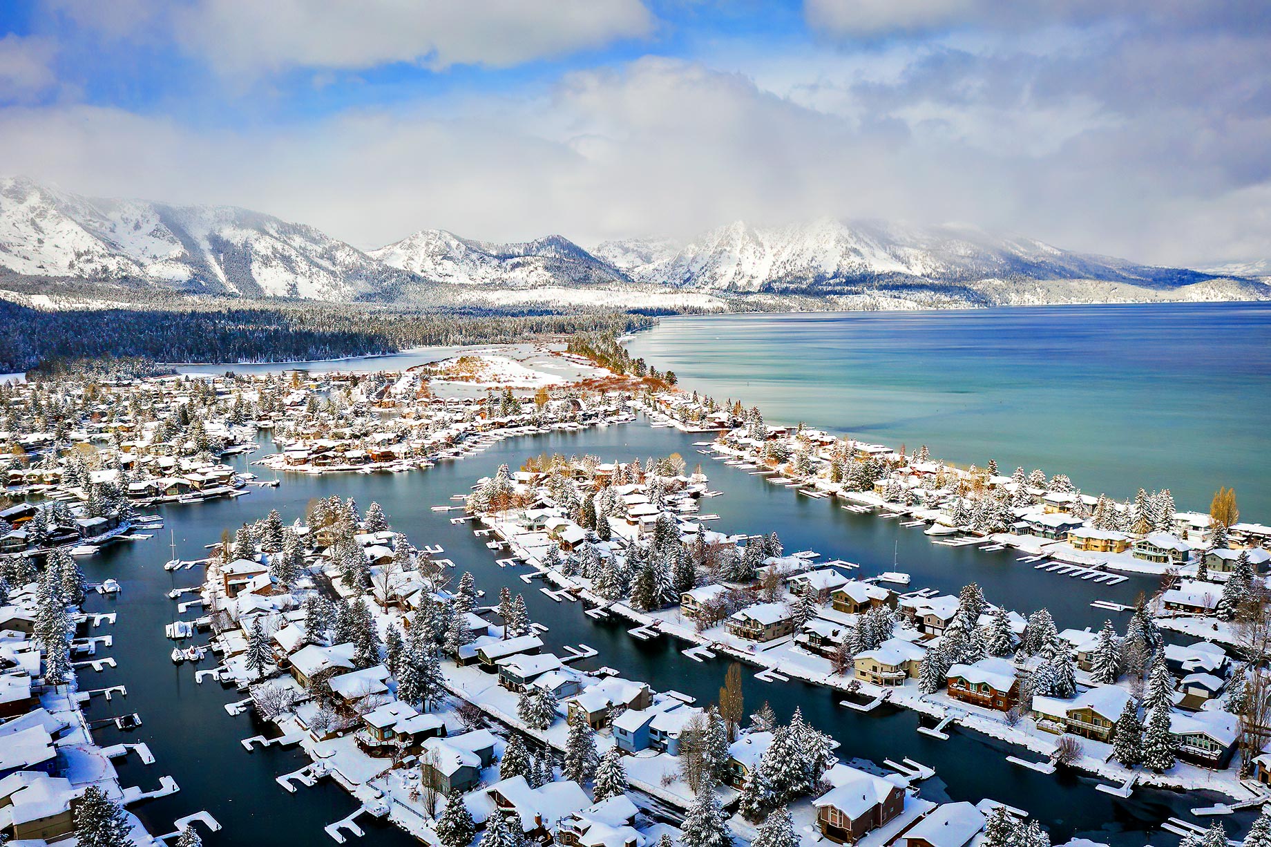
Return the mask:
M538 289L628 281L622 271L561 235L494 244L442 229L422 229L369 256L389 267L455 285Z

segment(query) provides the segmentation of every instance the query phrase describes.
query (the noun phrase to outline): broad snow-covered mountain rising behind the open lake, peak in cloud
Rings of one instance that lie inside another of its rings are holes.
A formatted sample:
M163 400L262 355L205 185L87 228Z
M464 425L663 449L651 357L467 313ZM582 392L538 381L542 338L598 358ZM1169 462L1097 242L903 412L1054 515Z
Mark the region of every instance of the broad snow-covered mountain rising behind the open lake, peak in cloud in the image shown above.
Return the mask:
M619 249L606 247L615 254ZM916 229L833 219L770 229L737 221L624 270L634 280L675 287L812 295L990 280L1101 280L1157 287L1206 279L1192 271L1061 251L1033 239L990 237L971 228Z

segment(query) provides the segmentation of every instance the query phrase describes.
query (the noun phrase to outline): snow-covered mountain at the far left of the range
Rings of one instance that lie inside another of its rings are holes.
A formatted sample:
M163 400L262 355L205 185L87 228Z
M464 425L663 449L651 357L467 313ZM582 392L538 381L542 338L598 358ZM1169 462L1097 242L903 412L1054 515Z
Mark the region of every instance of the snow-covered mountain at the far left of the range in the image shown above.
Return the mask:
M0 179L0 267L194 294L348 300L398 272L304 224L233 206L92 200Z

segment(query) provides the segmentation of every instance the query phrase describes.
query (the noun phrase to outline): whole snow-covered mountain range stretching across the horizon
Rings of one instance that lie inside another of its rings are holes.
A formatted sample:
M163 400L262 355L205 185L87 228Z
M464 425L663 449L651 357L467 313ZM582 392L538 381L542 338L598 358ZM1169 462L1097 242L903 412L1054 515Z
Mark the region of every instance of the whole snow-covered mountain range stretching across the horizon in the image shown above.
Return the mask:
M834 219L738 221L685 244L633 238L591 251L561 235L498 244L426 229L361 251L247 209L89 198L0 179L0 273L114 291L666 309L1271 299L1258 267L1152 267L972 228Z

